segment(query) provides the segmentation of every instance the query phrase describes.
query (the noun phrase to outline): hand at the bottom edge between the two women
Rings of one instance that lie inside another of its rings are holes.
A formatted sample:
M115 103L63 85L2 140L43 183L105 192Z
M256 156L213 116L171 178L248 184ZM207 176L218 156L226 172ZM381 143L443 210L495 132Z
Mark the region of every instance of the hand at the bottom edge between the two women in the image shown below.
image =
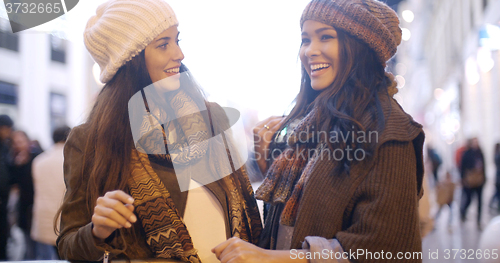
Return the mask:
M254 244L232 237L212 249L212 253L222 263L252 263L269 262L272 259L268 250L257 247Z

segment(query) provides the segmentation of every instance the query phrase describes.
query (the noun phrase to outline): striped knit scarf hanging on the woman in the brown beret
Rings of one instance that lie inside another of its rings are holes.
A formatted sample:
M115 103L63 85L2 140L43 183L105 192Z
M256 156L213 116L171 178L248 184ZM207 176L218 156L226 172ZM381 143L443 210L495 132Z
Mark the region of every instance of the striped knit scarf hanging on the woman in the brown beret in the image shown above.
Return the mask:
M257 199L276 205L285 203L280 223L294 226L304 185L310 176L311 162L307 143L312 138L313 109L300 121L288 137L288 147L267 171L266 178L257 189Z

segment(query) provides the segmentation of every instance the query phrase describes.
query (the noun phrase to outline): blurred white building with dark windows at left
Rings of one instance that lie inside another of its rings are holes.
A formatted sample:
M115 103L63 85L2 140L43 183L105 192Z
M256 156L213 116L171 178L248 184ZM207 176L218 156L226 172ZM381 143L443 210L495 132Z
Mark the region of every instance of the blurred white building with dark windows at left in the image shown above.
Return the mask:
M48 148L55 128L81 123L88 111L97 85L92 64L83 44L61 31L13 34L0 18L0 114Z

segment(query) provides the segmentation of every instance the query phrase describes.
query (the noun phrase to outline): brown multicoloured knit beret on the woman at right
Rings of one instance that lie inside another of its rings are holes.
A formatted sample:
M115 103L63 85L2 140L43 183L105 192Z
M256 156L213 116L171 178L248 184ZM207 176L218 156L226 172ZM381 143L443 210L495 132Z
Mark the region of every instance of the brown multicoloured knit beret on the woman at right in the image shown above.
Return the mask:
M365 42L383 65L401 43L398 15L377 0L312 0L302 13L301 28L306 20L341 29Z

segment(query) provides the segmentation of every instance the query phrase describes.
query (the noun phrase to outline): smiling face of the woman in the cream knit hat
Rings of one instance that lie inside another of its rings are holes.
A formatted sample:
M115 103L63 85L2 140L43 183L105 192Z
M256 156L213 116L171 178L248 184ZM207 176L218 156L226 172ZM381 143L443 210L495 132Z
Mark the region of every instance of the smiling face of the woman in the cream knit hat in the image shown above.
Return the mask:
M146 46L144 56L146 68L153 83L161 86L163 92L176 90L180 87L179 68L184 54L179 47L179 31L172 26L158 35Z

